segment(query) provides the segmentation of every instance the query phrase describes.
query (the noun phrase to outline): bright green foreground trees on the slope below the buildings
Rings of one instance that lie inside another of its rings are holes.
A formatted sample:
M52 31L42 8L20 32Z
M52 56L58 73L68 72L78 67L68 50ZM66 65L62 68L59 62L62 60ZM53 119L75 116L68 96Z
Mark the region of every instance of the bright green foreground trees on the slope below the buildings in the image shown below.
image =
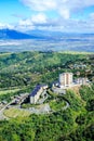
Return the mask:
M86 90L88 88L86 86L81 89ZM94 90L94 85L92 89ZM89 94L91 93L91 91L88 92ZM94 97L93 93L92 97ZM62 108L58 111L62 103L57 103L59 105L57 107L56 103L52 101L51 104L56 110L52 114L31 114L28 116L28 113L22 113L17 118L0 121L1 141L93 141L94 108L92 111L90 108L90 105L93 104L92 100L83 101L81 97L78 97L71 90L67 91L65 95L59 97L59 100L63 99L70 103L66 111ZM18 114L18 110L14 108L11 113L10 110L6 112L5 114L10 116ZM25 115L28 117L23 117Z

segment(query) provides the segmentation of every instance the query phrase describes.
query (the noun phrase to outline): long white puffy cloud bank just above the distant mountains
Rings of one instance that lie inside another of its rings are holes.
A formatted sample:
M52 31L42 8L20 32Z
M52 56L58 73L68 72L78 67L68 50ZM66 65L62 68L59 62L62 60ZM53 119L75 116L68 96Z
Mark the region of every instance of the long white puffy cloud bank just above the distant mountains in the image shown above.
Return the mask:
M92 14L93 15L93 14ZM94 31L94 20L56 18L51 20L43 13L33 14L31 17L21 20L15 29L26 31L32 29L53 31Z

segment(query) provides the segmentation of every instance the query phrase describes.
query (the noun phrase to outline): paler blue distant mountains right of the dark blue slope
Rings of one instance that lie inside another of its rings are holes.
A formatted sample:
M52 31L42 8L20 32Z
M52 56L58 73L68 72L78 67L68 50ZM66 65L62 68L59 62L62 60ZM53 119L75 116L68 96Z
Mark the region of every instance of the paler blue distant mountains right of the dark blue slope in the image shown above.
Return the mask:
M65 38L89 38L94 37L94 33L64 33L61 31L53 31L53 30L40 30L40 29L33 29L33 30L27 30L28 35L44 37L49 39L65 39Z

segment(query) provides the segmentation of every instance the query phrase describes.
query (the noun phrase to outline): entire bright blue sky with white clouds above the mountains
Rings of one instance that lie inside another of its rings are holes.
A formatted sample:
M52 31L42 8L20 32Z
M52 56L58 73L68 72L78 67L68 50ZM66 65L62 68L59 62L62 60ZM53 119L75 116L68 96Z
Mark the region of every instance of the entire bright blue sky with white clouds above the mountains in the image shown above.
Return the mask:
M94 33L94 0L0 0L0 28Z

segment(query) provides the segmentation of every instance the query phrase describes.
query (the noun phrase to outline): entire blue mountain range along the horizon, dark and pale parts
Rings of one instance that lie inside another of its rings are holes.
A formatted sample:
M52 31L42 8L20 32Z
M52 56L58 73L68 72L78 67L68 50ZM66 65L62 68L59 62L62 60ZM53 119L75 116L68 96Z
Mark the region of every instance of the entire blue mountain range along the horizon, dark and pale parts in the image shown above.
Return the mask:
M65 37L94 37L94 34L63 33L49 30L28 30L22 33L14 29L0 29L0 39L65 39ZM70 39L69 39L70 40ZM75 39L76 40L76 39ZM68 40L67 40L68 41Z

